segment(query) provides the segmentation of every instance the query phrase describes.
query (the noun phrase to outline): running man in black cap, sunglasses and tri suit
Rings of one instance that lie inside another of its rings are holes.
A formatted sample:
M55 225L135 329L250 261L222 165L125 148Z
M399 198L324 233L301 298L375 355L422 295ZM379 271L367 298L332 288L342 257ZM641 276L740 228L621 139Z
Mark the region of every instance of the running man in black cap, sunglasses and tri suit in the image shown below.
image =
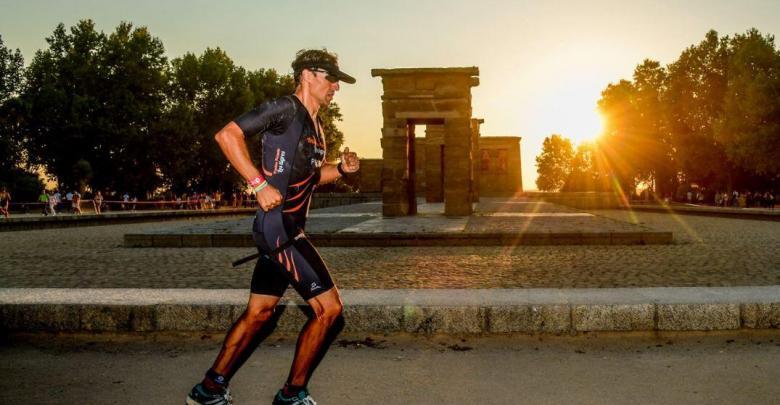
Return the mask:
M228 382L256 347L288 285L311 307L301 331L287 382L274 404L315 404L309 378L343 327L341 296L317 250L304 236L312 191L360 168L346 148L339 164L325 163L325 138L317 113L333 100L339 81L355 79L339 69L326 50L301 50L292 63L295 93L263 103L227 124L216 135L230 164L254 190L259 210L252 227L261 254L255 265L249 303L225 337L222 350L187 404L230 404ZM252 164L245 136L261 134L261 168Z

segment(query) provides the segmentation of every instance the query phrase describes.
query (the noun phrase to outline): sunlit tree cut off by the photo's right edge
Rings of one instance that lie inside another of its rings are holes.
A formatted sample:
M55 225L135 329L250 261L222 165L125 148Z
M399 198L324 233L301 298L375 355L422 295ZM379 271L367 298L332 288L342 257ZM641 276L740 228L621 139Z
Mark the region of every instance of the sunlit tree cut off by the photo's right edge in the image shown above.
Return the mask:
M752 29L730 42L728 89L715 140L728 158L757 175L780 175L780 53Z

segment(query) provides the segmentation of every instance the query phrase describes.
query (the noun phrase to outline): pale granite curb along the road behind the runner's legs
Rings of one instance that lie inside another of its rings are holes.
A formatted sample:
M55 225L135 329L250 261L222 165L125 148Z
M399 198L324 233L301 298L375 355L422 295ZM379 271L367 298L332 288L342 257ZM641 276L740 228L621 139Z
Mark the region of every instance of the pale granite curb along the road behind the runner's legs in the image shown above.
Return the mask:
M780 286L344 290L346 331L413 334L576 334L780 328ZM224 332L245 290L0 289L4 331ZM285 297L277 330L308 308Z

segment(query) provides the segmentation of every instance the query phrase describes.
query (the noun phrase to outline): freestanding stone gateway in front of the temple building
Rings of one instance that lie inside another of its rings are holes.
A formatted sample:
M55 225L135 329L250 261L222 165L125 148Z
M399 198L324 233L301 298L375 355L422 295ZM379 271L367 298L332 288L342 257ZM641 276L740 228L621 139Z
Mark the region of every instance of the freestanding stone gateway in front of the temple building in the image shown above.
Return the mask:
M426 200L443 200L445 215L470 215L476 198L474 156L478 150L471 87L479 85L479 70L373 69L371 75L382 77L384 88L382 214L417 213L415 157L423 153L426 178L441 179L427 184ZM415 145L416 125L426 125L423 150Z

